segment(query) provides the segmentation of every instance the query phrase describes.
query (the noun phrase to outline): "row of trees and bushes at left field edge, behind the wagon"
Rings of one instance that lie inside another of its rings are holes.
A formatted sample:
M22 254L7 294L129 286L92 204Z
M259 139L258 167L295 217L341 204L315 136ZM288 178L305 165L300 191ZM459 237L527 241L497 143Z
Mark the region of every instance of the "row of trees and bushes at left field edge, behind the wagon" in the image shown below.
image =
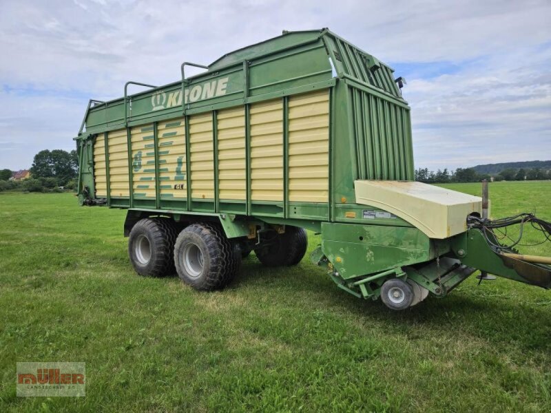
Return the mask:
M34 156L30 178L10 180L10 169L0 170L0 191L62 192L76 189L79 157L76 151L45 149Z

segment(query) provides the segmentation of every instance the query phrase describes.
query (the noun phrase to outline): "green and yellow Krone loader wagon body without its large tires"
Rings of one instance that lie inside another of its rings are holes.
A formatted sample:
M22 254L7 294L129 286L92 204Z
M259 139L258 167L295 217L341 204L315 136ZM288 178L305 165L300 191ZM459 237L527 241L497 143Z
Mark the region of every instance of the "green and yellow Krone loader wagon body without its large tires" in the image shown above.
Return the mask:
M311 229L314 262L365 298L395 277L444 296L479 268L457 251L481 198L411 182L410 107L391 67L326 29L284 32L189 78L186 65L176 83L91 100L76 138L81 204L128 209L125 235L152 216L215 222L249 246Z

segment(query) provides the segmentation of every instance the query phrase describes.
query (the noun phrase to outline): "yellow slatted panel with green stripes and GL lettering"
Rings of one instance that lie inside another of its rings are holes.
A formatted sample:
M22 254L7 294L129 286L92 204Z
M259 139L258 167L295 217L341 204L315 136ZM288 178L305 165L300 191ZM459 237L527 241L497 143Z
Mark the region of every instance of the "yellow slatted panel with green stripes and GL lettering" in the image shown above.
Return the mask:
M157 134L160 198L187 198L185 121L159 122Z

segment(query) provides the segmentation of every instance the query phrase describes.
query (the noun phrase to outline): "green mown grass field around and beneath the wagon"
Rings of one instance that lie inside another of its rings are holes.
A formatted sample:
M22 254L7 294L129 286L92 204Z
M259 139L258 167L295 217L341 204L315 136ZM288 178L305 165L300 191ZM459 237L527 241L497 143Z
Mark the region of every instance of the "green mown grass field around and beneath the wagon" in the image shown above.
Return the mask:
M492 183L490 198L494 217L551 220L551 182ZM134 273L124 218L70 194L0 195L0 412L551 411L550 291L471 277L394 313L307 257L251 256L198 293ZM86 396L17 397L17 361L85 361Z

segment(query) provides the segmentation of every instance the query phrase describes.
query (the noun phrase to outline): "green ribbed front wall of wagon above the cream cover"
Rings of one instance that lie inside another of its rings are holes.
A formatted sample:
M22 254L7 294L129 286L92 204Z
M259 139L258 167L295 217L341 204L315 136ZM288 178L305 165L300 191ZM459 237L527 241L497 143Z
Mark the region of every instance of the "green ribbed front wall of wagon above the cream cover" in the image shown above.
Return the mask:
M355 180L413 180L410 109L360 83L335 87L333 202L355 204Z

